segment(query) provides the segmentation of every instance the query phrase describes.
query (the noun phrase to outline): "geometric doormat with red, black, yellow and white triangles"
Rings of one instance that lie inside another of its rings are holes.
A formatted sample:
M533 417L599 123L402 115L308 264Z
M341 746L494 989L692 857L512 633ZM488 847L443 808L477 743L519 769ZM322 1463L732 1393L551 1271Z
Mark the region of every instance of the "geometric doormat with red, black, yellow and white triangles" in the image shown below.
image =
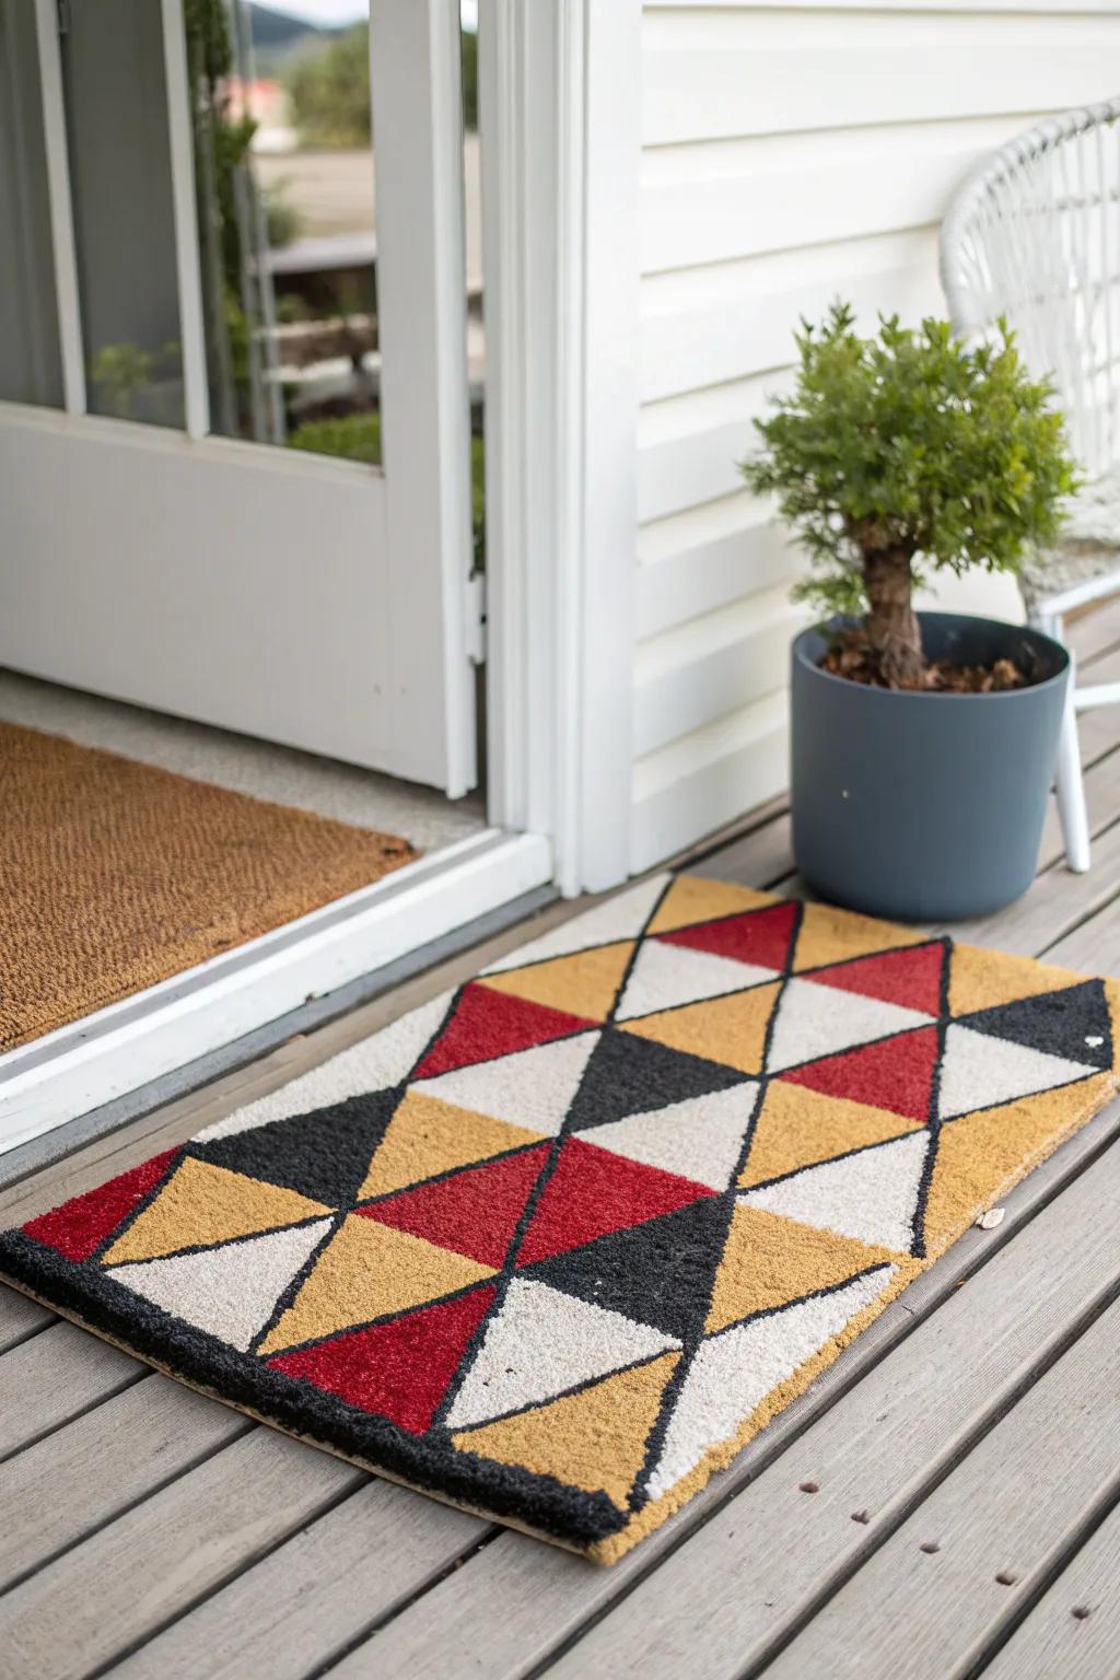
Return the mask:
M1117 1090L1120 988L660 875L22 1230L141 1359L611 1562Z

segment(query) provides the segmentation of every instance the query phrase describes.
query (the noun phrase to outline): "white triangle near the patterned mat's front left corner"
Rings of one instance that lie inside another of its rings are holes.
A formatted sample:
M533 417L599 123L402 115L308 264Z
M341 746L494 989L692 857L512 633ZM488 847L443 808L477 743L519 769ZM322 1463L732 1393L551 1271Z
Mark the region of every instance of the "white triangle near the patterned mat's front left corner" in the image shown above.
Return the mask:
M195 1329L247 1352L331 1220L314 1220L242 1242L138 1260L106 1275Z

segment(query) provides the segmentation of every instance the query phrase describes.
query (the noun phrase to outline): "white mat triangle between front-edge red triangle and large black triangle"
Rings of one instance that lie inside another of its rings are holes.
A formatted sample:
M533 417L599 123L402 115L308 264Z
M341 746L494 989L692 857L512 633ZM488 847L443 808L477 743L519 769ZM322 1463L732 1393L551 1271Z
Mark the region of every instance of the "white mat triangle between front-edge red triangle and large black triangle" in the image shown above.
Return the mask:
M680 1342L621 1312L516 1277L447 1416L450 1430L539 1406Z

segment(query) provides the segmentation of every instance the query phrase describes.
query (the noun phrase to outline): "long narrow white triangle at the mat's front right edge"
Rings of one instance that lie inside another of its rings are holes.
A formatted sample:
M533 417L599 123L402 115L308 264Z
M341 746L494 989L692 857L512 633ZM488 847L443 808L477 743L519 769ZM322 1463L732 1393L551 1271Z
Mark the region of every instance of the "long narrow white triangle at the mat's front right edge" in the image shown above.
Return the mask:
M843 1289L749 1319L702 1342L680 1388L650 1478L650 1497L668 1494L709 1448L732 1440L771 1389L882 1295L895 1270L893 1265L875 1267Z

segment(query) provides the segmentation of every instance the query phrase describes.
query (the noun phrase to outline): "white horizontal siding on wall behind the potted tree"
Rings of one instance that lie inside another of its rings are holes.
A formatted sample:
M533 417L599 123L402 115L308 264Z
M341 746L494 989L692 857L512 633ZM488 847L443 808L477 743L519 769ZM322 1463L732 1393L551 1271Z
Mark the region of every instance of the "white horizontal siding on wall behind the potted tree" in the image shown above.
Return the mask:
M955 186L1120 92L1120 0L645 0L641 71L635 869L786 780L801 559L737 462L798 319L942 314Z

